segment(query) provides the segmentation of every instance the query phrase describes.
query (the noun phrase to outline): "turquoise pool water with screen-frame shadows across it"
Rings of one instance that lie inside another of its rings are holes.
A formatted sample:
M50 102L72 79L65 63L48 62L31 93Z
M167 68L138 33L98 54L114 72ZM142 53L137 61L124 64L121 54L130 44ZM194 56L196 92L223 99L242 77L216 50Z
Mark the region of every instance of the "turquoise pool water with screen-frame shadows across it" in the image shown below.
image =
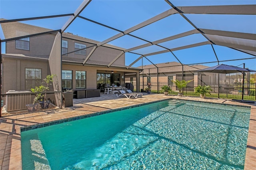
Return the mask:
M164 101L24 131L23 169L243 169L250 109Z

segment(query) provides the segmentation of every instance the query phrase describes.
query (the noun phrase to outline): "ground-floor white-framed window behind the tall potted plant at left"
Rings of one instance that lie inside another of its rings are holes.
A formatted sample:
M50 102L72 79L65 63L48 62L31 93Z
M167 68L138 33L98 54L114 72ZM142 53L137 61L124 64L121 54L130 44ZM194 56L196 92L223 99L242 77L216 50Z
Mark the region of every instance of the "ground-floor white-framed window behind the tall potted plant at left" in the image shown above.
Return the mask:
M31 88L35 88L36 86L40 86L41 81L41 69L25 69L25 82L26 82L26 90L30 90Z

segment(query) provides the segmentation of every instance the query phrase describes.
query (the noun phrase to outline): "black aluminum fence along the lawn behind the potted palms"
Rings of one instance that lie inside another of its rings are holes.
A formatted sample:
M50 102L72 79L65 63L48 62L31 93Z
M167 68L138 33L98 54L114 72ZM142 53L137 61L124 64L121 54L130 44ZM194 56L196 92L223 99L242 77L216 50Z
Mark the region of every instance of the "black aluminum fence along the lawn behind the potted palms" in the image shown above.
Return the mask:
M151 91L157 93L161 90L161 87L168 85L163 82L151 82ZM242 99L242 83L204 83L204 85L210 85L212 88L211 95L208 97L219 97L225 99ZM168 86L171 87L172 92L170 94L178 94L178 88L175 83L171 83ZM183 95L199 96L194 93L194 87L197 87L198 83L188 83L187 87L183 89ZM147 87L146 84L140 84L140 91ZM244 84L244 100L256 101L256 83Z

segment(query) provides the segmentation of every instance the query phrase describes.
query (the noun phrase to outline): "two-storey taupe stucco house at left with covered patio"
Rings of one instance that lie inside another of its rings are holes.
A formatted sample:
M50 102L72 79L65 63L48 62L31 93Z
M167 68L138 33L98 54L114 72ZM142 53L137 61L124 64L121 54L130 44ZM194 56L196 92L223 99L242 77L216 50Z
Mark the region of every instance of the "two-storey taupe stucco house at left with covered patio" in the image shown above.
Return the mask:
M59 32L50 32L52 30L19 22L1 26L5 39L10 39L6 42L6 54L2 54L3 94L10 90L29 91L39 86L46 75L50 74L57 75L50 91L100 89L105 83L124 85L127 73L132 73L134 79L137 77L139 81L140 69L127 69L125 54L116 59L123 50L119 47L115 47L120 49L117 50L113 49L112 45L104 44L90 53L99 42L72 33L61 35ZM39 35L43 32L50 33ZM38 35L11 40L15 36L31 34ZM111 62L112 65L109 65ZM58 97L55 97L54 101L60 105Z

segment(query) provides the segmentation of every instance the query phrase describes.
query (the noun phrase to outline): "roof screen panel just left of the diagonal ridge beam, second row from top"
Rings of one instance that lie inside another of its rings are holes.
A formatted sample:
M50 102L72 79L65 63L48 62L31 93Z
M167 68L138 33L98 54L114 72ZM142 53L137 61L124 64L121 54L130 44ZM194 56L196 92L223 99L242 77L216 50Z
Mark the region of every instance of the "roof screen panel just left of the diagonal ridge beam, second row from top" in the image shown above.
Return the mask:
M174 14L130 34L153 42L190 30L194 30L194 27L179 14Z

